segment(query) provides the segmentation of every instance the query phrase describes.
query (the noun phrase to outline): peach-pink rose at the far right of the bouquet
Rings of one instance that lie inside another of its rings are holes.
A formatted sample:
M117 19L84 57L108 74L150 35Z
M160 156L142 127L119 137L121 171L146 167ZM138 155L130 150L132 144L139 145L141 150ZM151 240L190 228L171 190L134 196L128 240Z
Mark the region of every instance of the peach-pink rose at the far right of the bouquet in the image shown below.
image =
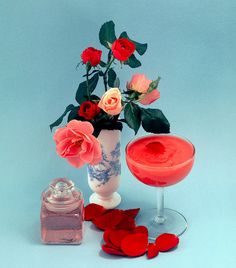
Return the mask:
M149 80L144 74L135 74L130 82L127 83L127 89L142 93L139 97L139 102L143 105L148 105L160 98L160 92L157 89L148 92L151 83L152 80Z

